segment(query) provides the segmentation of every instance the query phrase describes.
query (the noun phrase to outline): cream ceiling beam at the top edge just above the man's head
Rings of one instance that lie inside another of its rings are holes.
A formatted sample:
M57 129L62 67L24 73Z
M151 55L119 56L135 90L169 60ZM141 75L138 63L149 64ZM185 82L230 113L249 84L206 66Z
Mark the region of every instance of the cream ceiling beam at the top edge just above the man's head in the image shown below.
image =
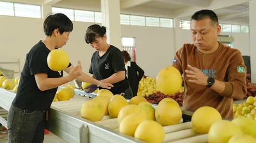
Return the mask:
M207 0L155 0L162 2L169 2L175 4L182 4L188 6L199 6L199 7L209 7L209 1Z

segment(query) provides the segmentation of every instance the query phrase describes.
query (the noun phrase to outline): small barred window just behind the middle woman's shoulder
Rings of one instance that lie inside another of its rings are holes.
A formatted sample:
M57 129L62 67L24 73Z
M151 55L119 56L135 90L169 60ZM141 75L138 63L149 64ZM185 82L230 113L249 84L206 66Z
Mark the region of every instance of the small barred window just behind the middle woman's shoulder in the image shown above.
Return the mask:
M130 57L131 62L136 62L136 46L134 37L122 37L122 47L126 50Z

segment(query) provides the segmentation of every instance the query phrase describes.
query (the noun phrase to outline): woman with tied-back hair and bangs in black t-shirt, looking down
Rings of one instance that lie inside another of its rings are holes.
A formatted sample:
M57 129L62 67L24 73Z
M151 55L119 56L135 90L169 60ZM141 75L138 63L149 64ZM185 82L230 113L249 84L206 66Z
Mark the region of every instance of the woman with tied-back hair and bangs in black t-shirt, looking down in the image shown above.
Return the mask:
M126 99L133 97L132 89L126 77L126 70L121 51L107 43L106 27L90 25L85 34L85 42L96 51L91 58L89 73L92 77L114 85L109 89L114 95L124 93ZM96 85L90 85L86 93L97 89ZM101 88L99 88L101 89Z

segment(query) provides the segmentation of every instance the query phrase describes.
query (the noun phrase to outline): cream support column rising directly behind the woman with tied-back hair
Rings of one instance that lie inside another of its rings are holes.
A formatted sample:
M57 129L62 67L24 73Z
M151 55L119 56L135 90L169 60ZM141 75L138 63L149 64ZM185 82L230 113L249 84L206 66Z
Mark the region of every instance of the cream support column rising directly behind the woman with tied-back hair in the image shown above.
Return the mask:
M122 50L120 0L101 0L102 26L107 27L107 43Z

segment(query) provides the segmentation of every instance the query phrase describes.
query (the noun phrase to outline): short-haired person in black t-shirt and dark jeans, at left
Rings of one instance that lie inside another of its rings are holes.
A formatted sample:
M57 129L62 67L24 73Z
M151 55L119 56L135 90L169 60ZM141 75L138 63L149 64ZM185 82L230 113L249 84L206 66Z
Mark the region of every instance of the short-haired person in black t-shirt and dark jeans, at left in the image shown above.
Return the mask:
M73 24L62 13L51 14L44 21L45 38L27 53L20 83L8 112L8 143L43 143L47 110L50 109L59 86L78 79L110 89L112 84L100 82L82 73L81 62L69 63L63 71L53 71L47 65L50 51L63 47Z

